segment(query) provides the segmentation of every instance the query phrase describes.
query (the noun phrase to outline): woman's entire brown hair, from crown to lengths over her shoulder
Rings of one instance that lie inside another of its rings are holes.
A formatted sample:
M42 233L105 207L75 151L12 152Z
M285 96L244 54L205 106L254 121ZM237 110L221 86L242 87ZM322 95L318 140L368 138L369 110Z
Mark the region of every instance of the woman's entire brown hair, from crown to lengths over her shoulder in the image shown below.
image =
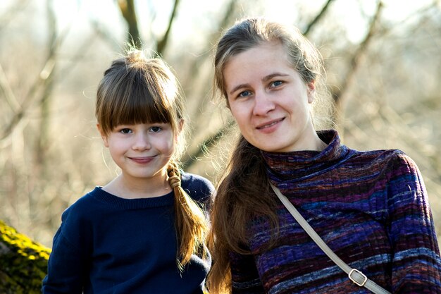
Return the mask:
M230 27L219 40L214 53L214 91L228 106L223 71L228 61L243 51L260 44L282 44L287 52L290 66L299 73L306 83L314 82L316 94L314 103L320 104L316 118L330 118L332 104L323 104L330 99L321 79L325 74L323 60L318 50L294 27L289 29L264 18L248 18ZM216 92L217 91L217 92ZM325 106L326 105L326 106ZM325 106L325 107L324 107ZM213 256L213 266L209 272L207 285L211 293L230 293L231 271L229 252L250 254L247 250L250 222L256 217L264 217L278 232L278 216L275 212L275 196L270 191L266 175L266 164L261 150L240 137L232 152L227 169L218 185L211 212L211 231L209 249ZM275 235L271 236L271 240ZM271 246L271 243L270 243Z

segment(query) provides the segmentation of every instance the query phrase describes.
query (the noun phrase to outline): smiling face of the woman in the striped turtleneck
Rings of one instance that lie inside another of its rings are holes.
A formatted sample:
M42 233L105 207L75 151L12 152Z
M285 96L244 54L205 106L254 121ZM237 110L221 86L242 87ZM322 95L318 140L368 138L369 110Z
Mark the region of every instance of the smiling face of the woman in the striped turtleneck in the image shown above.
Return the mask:
M316 149L309 106L314 83L290 66L279 43L232 56L223 71L228 104L245 139L267 152Z

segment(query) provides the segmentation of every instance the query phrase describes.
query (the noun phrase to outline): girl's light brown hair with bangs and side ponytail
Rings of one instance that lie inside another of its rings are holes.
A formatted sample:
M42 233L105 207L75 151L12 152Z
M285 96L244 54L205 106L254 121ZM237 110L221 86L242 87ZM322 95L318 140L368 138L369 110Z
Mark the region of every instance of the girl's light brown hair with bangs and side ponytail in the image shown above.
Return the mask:
M205 258L208 231L201 207L182 189L179 159L185 151L184 95L170 66L159 58L130 49L112 62L97 90L95 116L104 135L118 125L170 123L177 137L168 166L170 186L175 194L175 226L178 235L177 264L182 270L193 254Z

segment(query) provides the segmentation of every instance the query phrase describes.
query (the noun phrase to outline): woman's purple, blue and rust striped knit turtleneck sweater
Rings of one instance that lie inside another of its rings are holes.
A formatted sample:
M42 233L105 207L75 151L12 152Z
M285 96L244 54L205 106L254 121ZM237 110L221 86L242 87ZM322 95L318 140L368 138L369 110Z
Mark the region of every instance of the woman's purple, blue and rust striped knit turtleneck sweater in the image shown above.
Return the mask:
M441 293L441 259L418 167L399 150L359 152L319 133L322 152L266 153L271 183L349 266L391 293ZM275 196L274 196L275 197ZM349 281L278 207L270 226L250 223L251 255L230 253L232 293L370 293Z

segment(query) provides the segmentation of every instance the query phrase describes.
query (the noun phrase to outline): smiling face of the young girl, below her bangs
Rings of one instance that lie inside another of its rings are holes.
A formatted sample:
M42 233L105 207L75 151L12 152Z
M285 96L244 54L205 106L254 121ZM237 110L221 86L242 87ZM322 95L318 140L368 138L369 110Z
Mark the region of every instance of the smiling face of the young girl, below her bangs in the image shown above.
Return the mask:
M118 125L101 136L126 181L161 183L166 178L166 167L175 150L170 123Z

